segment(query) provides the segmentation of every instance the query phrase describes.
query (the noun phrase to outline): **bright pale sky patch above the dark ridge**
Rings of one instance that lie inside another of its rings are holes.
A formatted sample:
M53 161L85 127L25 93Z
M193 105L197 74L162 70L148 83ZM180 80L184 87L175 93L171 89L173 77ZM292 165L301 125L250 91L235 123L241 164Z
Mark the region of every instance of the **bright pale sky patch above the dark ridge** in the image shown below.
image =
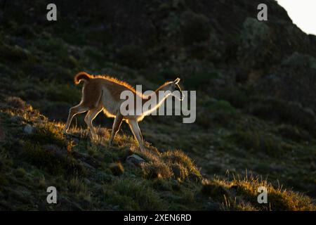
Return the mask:
M277 0L298 27L316 35L316 0ZM268 11L269 15L269 11Z

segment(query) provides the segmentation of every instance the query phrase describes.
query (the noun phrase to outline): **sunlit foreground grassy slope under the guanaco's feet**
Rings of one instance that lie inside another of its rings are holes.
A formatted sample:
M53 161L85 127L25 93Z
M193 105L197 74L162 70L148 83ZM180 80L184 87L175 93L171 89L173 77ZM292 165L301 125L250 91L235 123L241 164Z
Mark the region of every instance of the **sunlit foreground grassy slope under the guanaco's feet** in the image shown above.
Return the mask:
M62 134L60 123L9 97L1 103L1 210L315 210L312 199L253 176L206 179L181 150L140 152L131 136L98 128ZM139 155L140 164L126 160ZM46 203L46 188L58 189L58 204ZM269 204L256 201L265 186Z

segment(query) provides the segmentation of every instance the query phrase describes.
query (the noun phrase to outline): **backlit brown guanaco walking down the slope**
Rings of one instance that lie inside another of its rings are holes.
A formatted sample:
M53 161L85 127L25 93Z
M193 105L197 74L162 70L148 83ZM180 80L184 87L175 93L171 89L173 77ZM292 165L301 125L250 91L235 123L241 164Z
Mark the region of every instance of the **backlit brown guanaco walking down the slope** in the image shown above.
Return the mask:
M88 125L88 129L90 129L91 138L96 139L97 134L92 122L94 118L96 118L98 113L103 111L105 115L107 115L107 117L114 117L112 133L109 141L110 146L112 146L114 136L115 134L117 134L119 128L121 127L121 122L125 120L131 128L133 136L138 141L140 150L145 150L143 146L143 136L140 132L138 122L143 120L143 118L146 115L149 115L149 113L153 110L157 110L157 108L159 108L159 106L164 103L166 98L172 95L173 91L178 90L180 91L181 96L183 96L180 86L178 85L180 79L177 78L173 82L166 82L165 84L162 84L162 86L159 86L156 91L152 92L152 94L156 94L157 96L158 91L166 91L170 94L167 94L162 99L157 99L157 103L155 103L154 107L150 109L150 112L142 112L140 115L122 115L120 111L121 104L124 102L124 99L120 98L120 94L122 91L131 91L133 95L135 95L135 97L141 99L142 105L149 101L150 95L145 96L136 91L133 86L127 84L126 82L122 82L114 77L89 75L86 72L79 72L74 77L74 84L77 85L81 81L84 81L81 102L79 103L79 105L70 108L64 132L68 133L68 129L74 115L88 111L88 113L86 113L86 117L84 117L84 121Z

